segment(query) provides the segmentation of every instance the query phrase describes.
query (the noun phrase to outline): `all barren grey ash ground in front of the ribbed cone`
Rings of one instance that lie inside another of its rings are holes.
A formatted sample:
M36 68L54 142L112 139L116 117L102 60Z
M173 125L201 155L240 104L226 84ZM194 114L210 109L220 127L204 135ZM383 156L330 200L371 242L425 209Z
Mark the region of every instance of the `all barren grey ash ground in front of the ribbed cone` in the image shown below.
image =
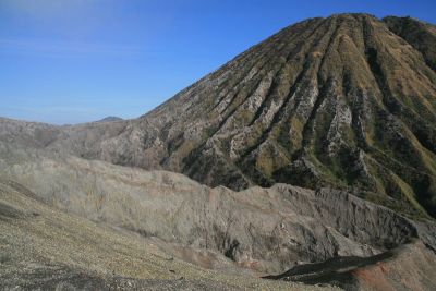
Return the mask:
M435 225L346 192L286 184L233 192L166 171L7 153L0 177L19 182L0 181L0 281L7 286L320 289L253 278L295 266L284 279L350 290L436 288ZM389 271L380 272L382 265Z

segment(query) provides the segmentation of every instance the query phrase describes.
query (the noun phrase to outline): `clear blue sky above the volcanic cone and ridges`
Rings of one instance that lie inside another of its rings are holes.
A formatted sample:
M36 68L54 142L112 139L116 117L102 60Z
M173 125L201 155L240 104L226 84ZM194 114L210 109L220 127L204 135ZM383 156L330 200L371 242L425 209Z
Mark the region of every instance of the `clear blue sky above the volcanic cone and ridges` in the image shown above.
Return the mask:
M0 117L135 118L298 21L436 23L436 0L0 0Z

